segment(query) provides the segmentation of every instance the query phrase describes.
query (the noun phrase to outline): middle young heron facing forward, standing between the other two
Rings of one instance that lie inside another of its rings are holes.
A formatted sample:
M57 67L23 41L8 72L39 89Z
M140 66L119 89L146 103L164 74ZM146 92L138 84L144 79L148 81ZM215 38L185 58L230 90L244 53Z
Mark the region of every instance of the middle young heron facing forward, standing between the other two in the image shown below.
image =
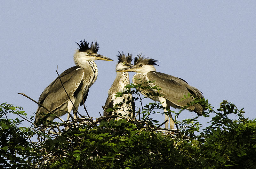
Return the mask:
M118 51L119 52L119 51ZM116 65L116 70L123 69L126 67L131 67L133 66L131 64L132 62L132 54L126 55L123 52L117 55L118 57L118 62ZM116 72L116 79L114 80L112 86L108 90L108 98L106 100L105 106L106 108L112 108L116 104L123 102L123 99L125 101L128 101L128 97L130 100L132 99L132 94L125 94L122 97L116 97L117 92L124 92L126 89L124 88L126 85L130 84L129 80L129 74L128 72ZM131 115L131 118L134 117L134 113L131 113L131 111L135 111L135 104L134 101L129 103L129 104L123 104L121 106L117 106L118 110L115 110L117 114L121 113L124 117L127 115ZM104 116L111 116L113 112L106 112L104 111ZM119 118L116 118L117 120Z

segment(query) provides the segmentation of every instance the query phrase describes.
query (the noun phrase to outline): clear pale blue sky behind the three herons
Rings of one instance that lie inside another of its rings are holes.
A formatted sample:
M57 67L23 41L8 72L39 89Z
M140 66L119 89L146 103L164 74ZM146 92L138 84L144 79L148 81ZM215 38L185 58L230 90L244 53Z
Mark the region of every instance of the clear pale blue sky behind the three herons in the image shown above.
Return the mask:
M215 108L225 99L254 119L255 9L255 1L3 0L0 103L33 115L36 103L17 93L38 100L57 77L57 66L59 73L75 66L75 42L86 39L99 42L98 53L114 60L95 61L99 75L85 102L92 117L103 114L119 50L159 60L157 71L186 80ZM82 107L78 111L85 114ZM196 113L184 111L179 120L192 116Z

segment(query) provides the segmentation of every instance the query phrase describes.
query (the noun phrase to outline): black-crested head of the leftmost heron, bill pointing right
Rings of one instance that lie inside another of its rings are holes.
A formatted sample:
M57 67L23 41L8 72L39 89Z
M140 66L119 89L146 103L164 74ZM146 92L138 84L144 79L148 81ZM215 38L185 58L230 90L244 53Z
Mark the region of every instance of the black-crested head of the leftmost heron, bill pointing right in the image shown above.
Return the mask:
M76 42L79 46L78 50L74 54L74 60L77 64L82 60L107 60L113 61L112 59L98 54L99 45L97 42L92 42L91 45L86 40L80 40L80 44Z

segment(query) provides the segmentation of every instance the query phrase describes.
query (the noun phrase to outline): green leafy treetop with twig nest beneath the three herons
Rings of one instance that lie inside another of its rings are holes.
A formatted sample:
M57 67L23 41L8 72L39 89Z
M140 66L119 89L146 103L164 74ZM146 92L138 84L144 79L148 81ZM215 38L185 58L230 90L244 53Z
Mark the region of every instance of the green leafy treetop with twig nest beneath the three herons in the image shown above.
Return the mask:
M141 103L141 89L133 84L117 96L132 93ZM133 89L135 88L135 89ZM158 89L157 86L153 87ZM159 89L160 90L160 89ZM151 93L158 95L157 93ZM184 99L186 99L185 96ZM129 101L128 101L129 102ZM152 114L165 109L161 104L141 105L141 119L92 121L32 125L22 108L0 106L0 166L2 168L248 168L256 167L256 121L244 118L243 109L223 101L217 111L205 99L209 126L202 128L198 116L184 119L179 130L164 130ZM189 106L189 105L188 105ZM177 113L178 116L182 110ZM19 118L7 118L15 114ZM236 115L236 119L232 119ZM213 116L211 119L209 116ZM20 120L21 119L21 120ZM31 126L23 126L22 122ZM65 130L63 126L68 127ZM62 128L61 128L62 127ZM31 141L38 140L38 141Z

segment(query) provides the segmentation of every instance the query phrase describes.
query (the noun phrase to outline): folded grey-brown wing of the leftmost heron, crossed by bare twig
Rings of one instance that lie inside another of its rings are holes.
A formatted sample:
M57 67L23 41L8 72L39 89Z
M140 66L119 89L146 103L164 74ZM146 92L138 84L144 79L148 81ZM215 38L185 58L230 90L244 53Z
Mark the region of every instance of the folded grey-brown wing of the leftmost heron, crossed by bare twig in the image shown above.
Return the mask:
M72 97L76 89L81 86L83 77L83 68L76 66L71 67L60 74L63 87L67 91L69 97ZM39 97L39 103L43 104L51 111L60 108L68 101L67 93L62 87L60 79L57 77L47 88L44 89L43 93Z

